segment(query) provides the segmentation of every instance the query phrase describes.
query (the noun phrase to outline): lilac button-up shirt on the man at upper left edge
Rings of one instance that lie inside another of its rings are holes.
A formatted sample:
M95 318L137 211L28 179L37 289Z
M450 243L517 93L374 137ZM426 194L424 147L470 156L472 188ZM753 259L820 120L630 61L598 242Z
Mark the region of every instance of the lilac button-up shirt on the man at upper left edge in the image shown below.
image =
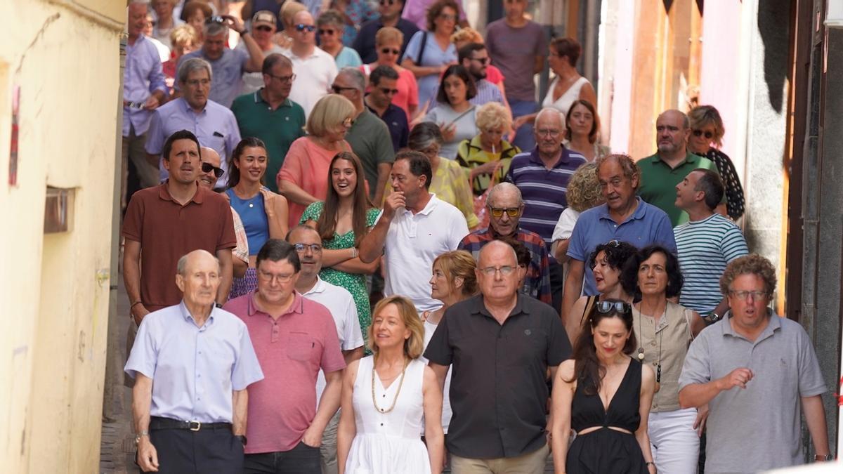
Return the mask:
M143 104L156 90L167 94L158 50L146 36L138 35L134 45L126 44L123 100ZM135 135L146 133L152 116L151 110L123 107L123 137L129 136L131 127L135 128Z

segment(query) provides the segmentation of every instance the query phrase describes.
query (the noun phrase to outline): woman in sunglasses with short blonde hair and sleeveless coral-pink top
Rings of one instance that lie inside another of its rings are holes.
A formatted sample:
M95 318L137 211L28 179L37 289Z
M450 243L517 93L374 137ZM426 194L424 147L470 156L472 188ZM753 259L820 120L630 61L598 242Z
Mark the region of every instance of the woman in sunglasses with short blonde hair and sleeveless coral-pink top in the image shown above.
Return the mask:
M374 36L375 51L378 52L378 61L371 64L363 64L360 68L367 76L375 67L389 66L398 73L398 82L395 88L398 94L392 96L392 103L400 107L407 114L407 121L412 121L416 116L419 107L419 86L416 83L416 76L409 69L400 67L398 60L401 58L401 45L404 44L404 33L401 30L386 26L378 30Z

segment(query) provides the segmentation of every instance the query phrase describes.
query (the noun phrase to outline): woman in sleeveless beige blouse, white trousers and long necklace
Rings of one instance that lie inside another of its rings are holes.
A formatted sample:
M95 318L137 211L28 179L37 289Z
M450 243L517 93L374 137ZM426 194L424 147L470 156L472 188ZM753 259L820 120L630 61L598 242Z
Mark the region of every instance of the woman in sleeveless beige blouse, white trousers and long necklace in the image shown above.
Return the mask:
M691 340L706 326L699 314L669 301L679 296L679 261L667 249L650 245L626 262L621 280L635 288L633 330L638 347L632 353L656 374L648 434L658 472L695 472L700 435L708 408L679 407L679 373Z

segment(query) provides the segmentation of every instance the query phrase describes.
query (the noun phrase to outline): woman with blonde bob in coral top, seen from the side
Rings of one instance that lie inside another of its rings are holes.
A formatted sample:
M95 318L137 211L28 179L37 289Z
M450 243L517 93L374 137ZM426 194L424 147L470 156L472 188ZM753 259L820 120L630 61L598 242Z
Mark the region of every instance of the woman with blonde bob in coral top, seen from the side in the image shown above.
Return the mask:
M290 145L277 176L278 191L290 204L290 229L298 224L306 207L325 201L330 160L341 151L352 151L345 137L356 114L350 100L337 94L325 95L308 116L304 127L308 136Z

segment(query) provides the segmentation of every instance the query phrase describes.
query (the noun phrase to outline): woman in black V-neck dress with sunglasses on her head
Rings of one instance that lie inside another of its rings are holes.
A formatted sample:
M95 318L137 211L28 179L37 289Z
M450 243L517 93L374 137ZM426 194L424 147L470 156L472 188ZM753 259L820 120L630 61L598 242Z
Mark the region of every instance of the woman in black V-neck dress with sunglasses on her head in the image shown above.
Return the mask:
M553 384L550 434L556 474L652 474L656 466L647 417L655 377L630 357L636 347L630 304L597 302L588 327ZM572 429L576 438L569 447Z

